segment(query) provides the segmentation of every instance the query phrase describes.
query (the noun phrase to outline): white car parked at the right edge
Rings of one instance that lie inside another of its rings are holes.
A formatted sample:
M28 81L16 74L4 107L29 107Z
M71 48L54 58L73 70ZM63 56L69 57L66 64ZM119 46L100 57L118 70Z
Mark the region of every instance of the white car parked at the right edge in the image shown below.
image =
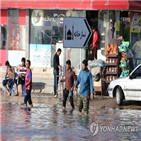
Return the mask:
M123 100L141 101L141 64L128 77L111 81L108 93L109 97L116 97L118 105L122 105Z

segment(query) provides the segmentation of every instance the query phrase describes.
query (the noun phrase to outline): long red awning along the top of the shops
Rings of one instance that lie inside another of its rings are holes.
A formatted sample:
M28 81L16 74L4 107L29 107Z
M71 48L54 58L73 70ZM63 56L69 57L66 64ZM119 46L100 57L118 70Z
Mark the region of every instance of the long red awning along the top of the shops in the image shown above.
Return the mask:
M1 8L140 10L141 0L1 0Z

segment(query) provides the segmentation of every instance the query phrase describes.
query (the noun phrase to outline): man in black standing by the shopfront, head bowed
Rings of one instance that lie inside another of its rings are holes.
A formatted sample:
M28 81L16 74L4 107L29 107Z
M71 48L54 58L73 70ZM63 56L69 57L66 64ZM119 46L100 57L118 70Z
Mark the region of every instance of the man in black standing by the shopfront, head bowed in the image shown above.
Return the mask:
M54 74L54 97L57 97L57 85L58 85L58 77L57 75L59 75L59 70L61 69L60 63L59 63L59 56L61 54L61 49L59 48L56 52L56 54L54 55L53 58L53 74Z

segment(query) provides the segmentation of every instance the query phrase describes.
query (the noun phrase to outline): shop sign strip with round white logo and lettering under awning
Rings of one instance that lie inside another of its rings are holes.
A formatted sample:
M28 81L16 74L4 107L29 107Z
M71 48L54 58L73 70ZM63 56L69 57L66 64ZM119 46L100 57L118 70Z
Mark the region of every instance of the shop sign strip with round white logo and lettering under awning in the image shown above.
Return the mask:
M32 26L51 26L57 23L58 26L63 26L64 17L85 17L85 11L61 11L61 10L32 10L31 25Z

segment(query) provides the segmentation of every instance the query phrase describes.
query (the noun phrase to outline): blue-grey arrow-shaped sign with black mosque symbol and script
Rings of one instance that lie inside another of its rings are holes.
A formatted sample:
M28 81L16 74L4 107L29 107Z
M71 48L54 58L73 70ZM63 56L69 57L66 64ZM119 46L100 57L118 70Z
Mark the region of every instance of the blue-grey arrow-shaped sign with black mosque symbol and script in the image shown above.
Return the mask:
M86 18L64 18L64 47L86 47L91 35Z

